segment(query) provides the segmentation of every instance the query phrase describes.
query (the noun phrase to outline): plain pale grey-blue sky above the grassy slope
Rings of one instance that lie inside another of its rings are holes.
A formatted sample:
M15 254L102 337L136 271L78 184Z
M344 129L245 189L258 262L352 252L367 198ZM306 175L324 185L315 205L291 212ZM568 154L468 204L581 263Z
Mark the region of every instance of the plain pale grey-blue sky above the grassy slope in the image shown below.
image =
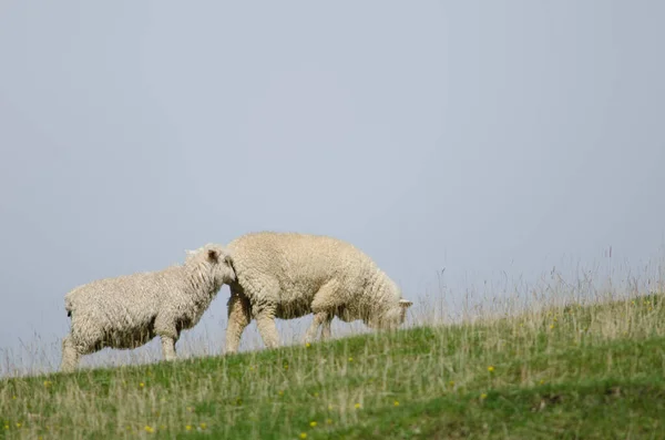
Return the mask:
M252 231L348 239L413 298L443 267L456 295L610 246L643 267L665 242L664 20L656 0L3 1L0 372L34 340L59 362L76 285ZM227 297L191 334L213 350Z

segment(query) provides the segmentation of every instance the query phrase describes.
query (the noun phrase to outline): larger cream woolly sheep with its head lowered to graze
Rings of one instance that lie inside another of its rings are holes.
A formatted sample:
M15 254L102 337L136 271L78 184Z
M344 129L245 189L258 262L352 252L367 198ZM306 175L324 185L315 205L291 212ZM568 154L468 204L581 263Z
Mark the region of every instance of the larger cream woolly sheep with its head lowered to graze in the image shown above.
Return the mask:
M319 327L321 339L330 338L334 317L346 323L362 319L372 329L397 328L412 305L369 256L334 237L257 232L226 248L236 274L227 303L227 354L237 351L253 318L264 345L275 348L275 318L314 314L304 338L311 342Z

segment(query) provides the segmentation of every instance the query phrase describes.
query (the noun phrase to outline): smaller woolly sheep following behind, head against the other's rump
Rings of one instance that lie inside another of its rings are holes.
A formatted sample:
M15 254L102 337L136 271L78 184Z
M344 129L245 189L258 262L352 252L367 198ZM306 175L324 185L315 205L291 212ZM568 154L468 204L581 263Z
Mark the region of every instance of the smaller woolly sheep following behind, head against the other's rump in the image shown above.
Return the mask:
M105 347L137 348L155 336L163 358L176 359L181 331L193 328L222 285L235 280L223 246L206 244L186 253L182 265L98 279L68 293L71 329L62 340L60 370L73 371L82 355Z

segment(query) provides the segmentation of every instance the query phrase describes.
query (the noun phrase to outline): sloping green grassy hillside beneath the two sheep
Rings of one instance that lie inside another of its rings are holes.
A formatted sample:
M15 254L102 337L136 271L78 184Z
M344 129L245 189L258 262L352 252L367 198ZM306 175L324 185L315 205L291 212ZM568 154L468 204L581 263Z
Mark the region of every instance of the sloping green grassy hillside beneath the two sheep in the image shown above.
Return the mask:
M0 382L0 438L665 438L661 296Z

